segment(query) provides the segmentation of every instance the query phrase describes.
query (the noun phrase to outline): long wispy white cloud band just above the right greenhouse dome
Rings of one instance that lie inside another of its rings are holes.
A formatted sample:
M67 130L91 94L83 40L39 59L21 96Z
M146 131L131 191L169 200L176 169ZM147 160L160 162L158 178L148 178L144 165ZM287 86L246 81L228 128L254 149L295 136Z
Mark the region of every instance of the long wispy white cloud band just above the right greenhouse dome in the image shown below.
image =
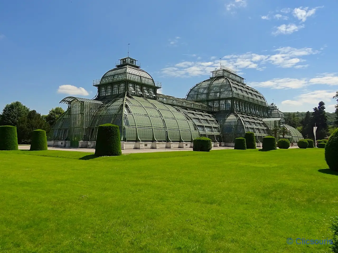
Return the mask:
M259 71L263 71L266 68L266 64L270 63L277 67L282 68L305 68L308 64L299 64L305 62L304 56L313 55L319 53L312 48L291 48L283 47L272 51L273 54L255 54L245 53L239 55L226 55L222 57L222 64L231 68L254 68ZM210 61L183 61L177 63L171 67L163 68L162 74L165 76L173 77L191 77L208 75L216 67L219 66L220 60L216 60L216 56L212 56Z

